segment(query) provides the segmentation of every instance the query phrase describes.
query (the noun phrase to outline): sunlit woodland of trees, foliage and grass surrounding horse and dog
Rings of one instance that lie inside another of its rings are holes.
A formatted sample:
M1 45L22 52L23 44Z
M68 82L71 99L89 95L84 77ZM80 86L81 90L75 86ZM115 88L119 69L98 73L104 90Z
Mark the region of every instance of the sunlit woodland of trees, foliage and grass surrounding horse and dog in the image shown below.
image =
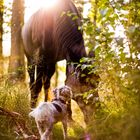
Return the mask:
M28 117L28 75L21 40L24 0L13 0L8 5L5 1L0 0L0 139L13 140L23 138L18 126L25 125L20 119L17 123L16 115L10 116L6 111L22 114L28 132L35 133L36 126ZM73 124L69 135L79 140L86 131L92 140L140 140L140 2L74 2L81 14L84 6L90 5L87 16L82 18L82 28L87 51L92 50L95 55L90 58L94 61L90 69L100 76L94 90L98 90L101 107L86 130ZM3 55L7 33L11 33L10 56ZM57 67L52 87L60 84L59 74L65 72L64 66ZM60 128L60 124L55 127L54 139L61 139Z

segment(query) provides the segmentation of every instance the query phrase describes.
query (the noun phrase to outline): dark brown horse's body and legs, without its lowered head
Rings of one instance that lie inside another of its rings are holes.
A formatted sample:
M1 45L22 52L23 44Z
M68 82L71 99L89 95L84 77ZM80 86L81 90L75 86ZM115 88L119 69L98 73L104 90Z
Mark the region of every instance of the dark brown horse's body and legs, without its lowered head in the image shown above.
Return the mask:
M48 100L50 79L55 64L66 60L79 63L86 57L81 17L71 0L59 0L53 8L36 11L22 28L24 52L30 77L31 107L35 107L38 95L44 87ZM66 70L66 75L68 70Z

